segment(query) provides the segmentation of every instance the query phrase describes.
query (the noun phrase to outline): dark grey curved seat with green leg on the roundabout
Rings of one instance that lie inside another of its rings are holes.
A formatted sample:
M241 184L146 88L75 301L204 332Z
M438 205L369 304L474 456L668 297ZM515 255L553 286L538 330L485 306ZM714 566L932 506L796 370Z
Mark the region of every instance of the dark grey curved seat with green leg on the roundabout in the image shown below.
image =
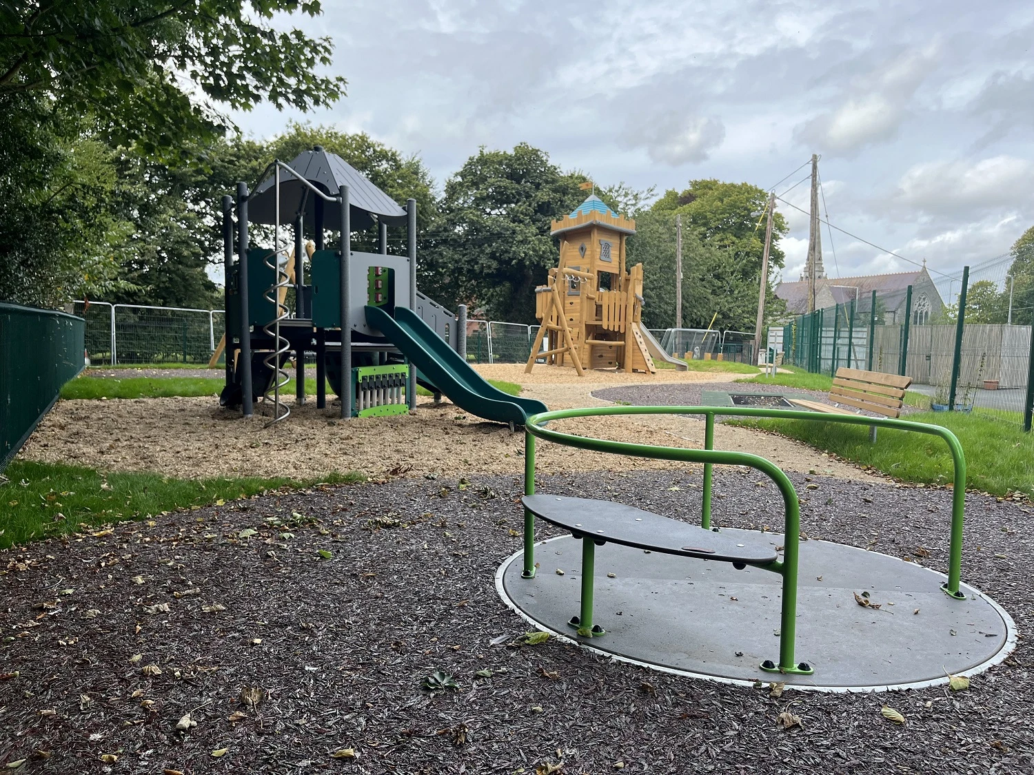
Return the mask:
M740 570L748 565L756 565L766 570L783 572L776 548L764 533L755 536L737 531L733 536L718 529L706 530L609 500L525 495L521 498L521 503L536 517L570 530L575 538L582 540L581 607L579 615L571 617L568 623L583 638L606 633L603 627L592 622L597 546L620 544L647 552L731 562L733 567ZM792 577L784 574L784 584L791 584L796 588L796 571ZM778 670L769 661L762 664L762 669ZM811 665L800 662L796 669L785 672L811 675L814 671Z

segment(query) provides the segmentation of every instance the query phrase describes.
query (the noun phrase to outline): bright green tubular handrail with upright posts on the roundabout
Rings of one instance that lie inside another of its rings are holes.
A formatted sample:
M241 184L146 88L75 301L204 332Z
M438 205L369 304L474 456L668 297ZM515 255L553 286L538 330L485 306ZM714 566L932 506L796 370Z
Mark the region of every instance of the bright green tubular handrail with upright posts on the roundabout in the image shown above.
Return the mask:
M608 439L577 436L546 428L546 424L554 420L570 417L607 416L614 414L703 414L706 421L703 450L688 450L675 446L657 446L638 444L627 441L611 441ZM846 425L877 426L893 428L902 431L914 431L932 436L940 436L948 445L954 464L953 489L951 493L951 545L948 557L948 581L941 586L948 596L954 599L965 599L960 590L962 576L963 526L966 507L966 456L959 439L947 428L925 423L913 423L907 420L885 417L869 417L855 414L825 414L811 411L790 409L763 409L753 407L716 407L716 406L603 406L583 409L560 409L534 414L527 419L524 433L524 494L535 495L535 446L536 437L555 441L559 444L575 446L594 452L632 455L639 458L655 458L661 460L683 461L687 463L704 464L703 496L701 501L701 526L710 528L711 500L711 467L718 465L749 466L768 476L779 488L783 496L785 509L785 540L782 562L761 566L766 570L778 572L783 577L783 603L780 628L780 659L779 664L766 661L763 670L779 673L810 673L809 665L798 664L794 659L797 616L797 562L798 544L800 540L800 501L793 483L786 473L765 458L750 453L724 452L713 450L714 417L747 416L776 417L784 420L807 420L821 423L844 423ZM524 509L524 567L523 576L535 576L535 515Z

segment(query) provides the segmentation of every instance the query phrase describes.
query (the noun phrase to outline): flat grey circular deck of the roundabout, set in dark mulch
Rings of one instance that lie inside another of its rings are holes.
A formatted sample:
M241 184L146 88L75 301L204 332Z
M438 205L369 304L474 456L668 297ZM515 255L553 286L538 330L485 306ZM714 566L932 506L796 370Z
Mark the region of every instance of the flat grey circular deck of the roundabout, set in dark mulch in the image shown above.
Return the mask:
M765 535L773 549L782 546L782 535ZM538 544L536 554L541 567L534 579L521 578L520 553L496 577L517 613L594 650L685 675L880 690L979 673L1015 646L1012 619L977 590L963 585L967 599L954 600L941 590L945 577L915 563L808 540L800 545L797 655L815 674L776 677L758 664L779 651L778 576L673 555L644 561L641 549L607 544L596 553L596 621L606 634L586 639L568 625L578 613L581 541L552 538ZM863 591L879 609L855 601Z

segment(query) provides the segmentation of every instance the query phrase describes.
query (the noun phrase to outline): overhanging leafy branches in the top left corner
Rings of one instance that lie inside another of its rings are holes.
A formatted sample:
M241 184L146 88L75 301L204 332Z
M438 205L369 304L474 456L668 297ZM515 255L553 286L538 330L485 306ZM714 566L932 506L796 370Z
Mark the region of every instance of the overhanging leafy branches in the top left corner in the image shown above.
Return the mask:
M317 0L5 2L0 101L47 95L96 116L115 144L191 161L227 124L213 104L306 111L343 95L343 79L315 73L330 64L329 38L270 24L298 11L322 12Z

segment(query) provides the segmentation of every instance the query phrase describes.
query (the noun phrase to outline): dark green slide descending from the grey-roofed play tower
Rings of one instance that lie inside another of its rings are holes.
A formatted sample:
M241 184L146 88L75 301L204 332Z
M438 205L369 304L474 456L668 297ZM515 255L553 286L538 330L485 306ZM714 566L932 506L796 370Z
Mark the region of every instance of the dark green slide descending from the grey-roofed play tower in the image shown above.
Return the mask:
M410 309L396 307L392 317L383 309L366 307L366 322L398 347L454 404L472 414L523 425L526 416L548 410L541 401L493 388Z

